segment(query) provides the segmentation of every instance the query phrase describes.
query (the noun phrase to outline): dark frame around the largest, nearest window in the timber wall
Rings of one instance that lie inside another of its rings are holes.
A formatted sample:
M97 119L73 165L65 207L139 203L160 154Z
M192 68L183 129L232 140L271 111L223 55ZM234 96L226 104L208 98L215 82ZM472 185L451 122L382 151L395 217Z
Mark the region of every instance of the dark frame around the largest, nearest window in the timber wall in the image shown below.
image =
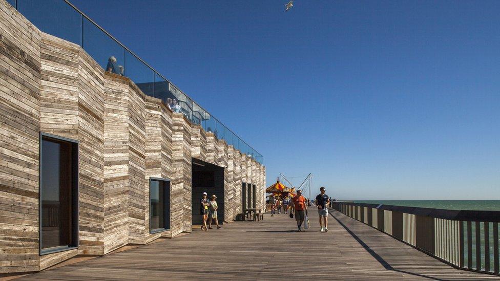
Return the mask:
M71 228L72 228L72 233L71 233L71 241L72 245L66 245L66 246L56 246L56 247L50 247L50 248L42 248L42 243L41 243L41 237L42 237L42 219L41 219L41 161L43 159L43 154L41 153L41 146L43 143L44 139L52 139L56 141L64 141L64 142L69 142L72 145L71 149L71 162L72 162L72 172L76 174L76 177L72 177L72 190L71 190ZM73 249L78 249L79 246L79 239L78 239L78 232L80 230L80 224L78 223L78 211L79 211L79 200L78 200L78 194L79 194L79 187L78 187L78 178L80 174L80 152L79 152L79 141L74 140L74 139L69 139L65 137L60 137L44 132L39 132L39 145L38 145L38 252L39 255L47 255L47 254L53 254L53 253L58 253L58 252L64 252L64 251L69 251ZM74 207L74 208L73 208Z

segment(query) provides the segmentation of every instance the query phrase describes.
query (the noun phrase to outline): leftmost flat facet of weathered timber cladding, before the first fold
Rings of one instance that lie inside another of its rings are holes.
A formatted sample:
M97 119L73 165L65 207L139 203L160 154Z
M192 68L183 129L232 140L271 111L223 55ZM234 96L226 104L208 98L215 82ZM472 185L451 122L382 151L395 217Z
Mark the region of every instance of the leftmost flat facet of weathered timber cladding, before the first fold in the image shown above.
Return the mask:
M0 273L38 258L41 33L0 4Z

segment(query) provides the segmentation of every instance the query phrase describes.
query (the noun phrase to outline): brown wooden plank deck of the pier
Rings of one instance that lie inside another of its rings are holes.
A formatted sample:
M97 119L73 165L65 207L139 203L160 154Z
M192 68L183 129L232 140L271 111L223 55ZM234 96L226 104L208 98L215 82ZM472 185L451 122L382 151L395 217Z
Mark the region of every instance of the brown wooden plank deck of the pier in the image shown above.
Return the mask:
M479 280L499 277L454 269L345 215L329 231L295 232L288 215L224 224L18 280L338 279Z

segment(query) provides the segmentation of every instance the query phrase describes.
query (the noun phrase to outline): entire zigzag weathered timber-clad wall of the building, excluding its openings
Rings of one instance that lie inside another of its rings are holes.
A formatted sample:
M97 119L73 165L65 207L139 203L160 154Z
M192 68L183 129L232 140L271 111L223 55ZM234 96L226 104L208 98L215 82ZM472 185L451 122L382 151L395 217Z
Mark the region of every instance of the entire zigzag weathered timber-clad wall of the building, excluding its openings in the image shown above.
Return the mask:
M265 167L0 0L0 273L191 232L192 157L224 167L224 220L241 184L265 205ZM39 255L39 132L79 141L78 249ZM227 168L226 168L227 167ZM149 178L171 179L171 228L150 234Z

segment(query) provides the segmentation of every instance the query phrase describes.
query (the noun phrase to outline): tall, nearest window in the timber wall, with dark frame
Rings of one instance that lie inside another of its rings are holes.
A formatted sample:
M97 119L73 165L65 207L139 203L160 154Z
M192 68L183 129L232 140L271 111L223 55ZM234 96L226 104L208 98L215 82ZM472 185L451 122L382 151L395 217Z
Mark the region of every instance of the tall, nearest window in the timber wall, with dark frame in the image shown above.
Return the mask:
M40 254L78 246L78 141L40 133Z

